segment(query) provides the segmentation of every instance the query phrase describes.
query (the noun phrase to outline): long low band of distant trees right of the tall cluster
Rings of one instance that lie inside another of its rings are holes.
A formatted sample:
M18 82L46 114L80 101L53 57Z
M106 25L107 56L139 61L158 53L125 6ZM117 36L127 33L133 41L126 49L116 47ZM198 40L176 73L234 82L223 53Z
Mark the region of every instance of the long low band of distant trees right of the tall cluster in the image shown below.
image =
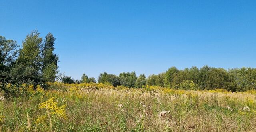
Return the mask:
M90 83L96 82L95 78L88 78L83 74L81 80L74 80L71 76L62 80L65 83ZM70 81L72 80L72 81ZM145 74L136 76L135 72L123 72L119 76L101 73L98 83L110 83L113 86L125 86L128 88L143 88L144 86L160 86L184 90L214 90L225 89L229 91L256 90L256 68L214 68L203 66L197 68L185 68L178 70L171 67L160 74Z

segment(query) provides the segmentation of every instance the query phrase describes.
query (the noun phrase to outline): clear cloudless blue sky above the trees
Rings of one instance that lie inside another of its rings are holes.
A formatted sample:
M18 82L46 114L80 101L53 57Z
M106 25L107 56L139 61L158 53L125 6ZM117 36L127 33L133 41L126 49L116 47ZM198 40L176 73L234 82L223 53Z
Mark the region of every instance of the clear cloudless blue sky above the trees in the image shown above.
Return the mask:
M0 0L0 35L54 34L60 72L256 67L255 0Z

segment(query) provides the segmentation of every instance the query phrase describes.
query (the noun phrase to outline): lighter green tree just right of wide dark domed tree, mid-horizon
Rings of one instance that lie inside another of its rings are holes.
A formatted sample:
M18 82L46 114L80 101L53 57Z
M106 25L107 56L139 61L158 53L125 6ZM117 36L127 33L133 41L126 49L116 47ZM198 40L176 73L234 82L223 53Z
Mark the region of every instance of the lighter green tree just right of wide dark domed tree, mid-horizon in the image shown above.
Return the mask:
M128 88L134 88L135 86L135 82L137 80L137 76L135 72L123 72L119 74L120 80L121 80L121 84L125 87Z

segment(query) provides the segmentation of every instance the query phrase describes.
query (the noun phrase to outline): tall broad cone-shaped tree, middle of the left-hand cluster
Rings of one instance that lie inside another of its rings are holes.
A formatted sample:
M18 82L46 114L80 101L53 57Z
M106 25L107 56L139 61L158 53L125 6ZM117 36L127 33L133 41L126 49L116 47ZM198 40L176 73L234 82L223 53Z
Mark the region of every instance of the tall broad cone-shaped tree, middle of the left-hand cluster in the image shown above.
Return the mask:
M32 31L30 34L26 36L25 41L22 42L22 49L20 50L20 55L17 58L17 62L11 70L12 78L15 78L15 76L20 76L20 78L24 78L18 81L17 83L33 81L35 84L39 84L43 82L41 74L41 47L42 38L39 37L39 33L37 30ZM19 69L21 70L21 72L29 73L21 74L19 71L17 71ZM27 76L28 74L30 74L31 76Z

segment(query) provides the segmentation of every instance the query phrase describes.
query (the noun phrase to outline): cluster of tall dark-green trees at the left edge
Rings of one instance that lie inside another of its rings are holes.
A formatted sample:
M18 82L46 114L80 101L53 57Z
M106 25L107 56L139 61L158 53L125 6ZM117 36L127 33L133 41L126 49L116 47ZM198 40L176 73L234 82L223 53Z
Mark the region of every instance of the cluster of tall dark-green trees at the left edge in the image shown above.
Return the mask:
M37 30L28 34L20 50L16 41L0 36L0 82L34 85L54 82L58 74L58 56L53 54L56 38L47 34L42 47L39 35Z

